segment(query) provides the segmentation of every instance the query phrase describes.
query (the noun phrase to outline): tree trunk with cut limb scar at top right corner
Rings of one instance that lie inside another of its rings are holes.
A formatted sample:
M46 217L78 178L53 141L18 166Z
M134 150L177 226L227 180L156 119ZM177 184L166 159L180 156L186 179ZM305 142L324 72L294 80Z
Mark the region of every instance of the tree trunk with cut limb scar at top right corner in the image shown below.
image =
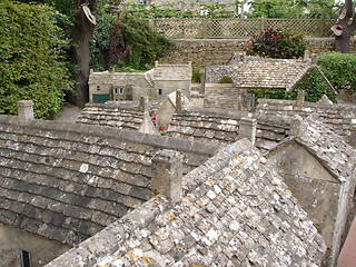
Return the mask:
M353 18L354 17L354 18ZM353 21L350 19L353 18ZM352 0L345 0L345 6L339 12L332 30L335 33L336 52L349 53L349 41L356 30L355 13L353 11Z

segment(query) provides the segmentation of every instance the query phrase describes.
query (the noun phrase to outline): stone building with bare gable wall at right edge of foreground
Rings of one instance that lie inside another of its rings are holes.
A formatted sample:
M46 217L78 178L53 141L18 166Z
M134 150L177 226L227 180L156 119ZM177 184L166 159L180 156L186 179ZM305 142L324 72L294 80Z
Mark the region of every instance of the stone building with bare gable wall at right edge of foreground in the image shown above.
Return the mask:
M290 138L266 157L324 237L324 266L335 266L354 208L356 152L317 115L303 122L297 116L290 128Z

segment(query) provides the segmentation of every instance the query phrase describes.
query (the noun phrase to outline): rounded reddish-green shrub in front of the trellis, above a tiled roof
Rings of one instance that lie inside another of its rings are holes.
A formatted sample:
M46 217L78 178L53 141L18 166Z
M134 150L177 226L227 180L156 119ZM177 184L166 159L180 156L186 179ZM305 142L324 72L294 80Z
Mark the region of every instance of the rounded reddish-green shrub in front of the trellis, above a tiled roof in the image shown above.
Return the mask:
M306 47L300 34L295 36L289 31L268 28L260 36L254 37L247 43L245 51L250 56L291 59L303 57Z

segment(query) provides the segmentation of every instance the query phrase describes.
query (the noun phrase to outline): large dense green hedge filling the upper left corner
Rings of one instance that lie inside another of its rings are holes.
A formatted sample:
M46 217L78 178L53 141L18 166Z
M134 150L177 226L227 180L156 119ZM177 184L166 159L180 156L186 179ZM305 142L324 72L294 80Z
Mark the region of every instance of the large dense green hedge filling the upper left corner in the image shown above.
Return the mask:
M0 3L0 112L16 115L19 100L32 99L37 118L51 118L72 88L62 57L68 42L47 6Z

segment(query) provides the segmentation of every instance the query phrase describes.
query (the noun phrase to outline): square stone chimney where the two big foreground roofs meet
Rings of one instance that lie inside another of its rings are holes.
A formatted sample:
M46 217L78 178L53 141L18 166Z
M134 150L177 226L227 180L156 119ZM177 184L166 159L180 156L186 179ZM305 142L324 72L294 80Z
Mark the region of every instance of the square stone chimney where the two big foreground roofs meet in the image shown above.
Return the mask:
M165 195L171 205L182 198L182 155L174 150L160 150L152 158L151 189Z

